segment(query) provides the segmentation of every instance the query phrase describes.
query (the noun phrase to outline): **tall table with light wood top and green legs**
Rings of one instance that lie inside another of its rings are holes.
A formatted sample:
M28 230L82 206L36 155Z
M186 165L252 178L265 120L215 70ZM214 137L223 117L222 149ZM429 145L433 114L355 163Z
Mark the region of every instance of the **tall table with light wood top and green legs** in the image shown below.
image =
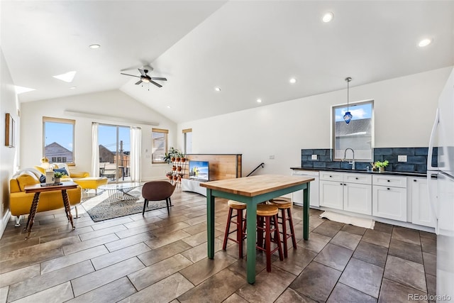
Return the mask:
M247 204L246 220L248 224L247 241L247 280L250 284L255 282L255 242L257 235L257 204L280 197L290 192L303 189L303 236L309 238L309 189L311 177L285 176L285 175L258 175L236 179L219 180L201 183L206 187L206 214L208 233L208 258L214 258L214 199L221 197Z

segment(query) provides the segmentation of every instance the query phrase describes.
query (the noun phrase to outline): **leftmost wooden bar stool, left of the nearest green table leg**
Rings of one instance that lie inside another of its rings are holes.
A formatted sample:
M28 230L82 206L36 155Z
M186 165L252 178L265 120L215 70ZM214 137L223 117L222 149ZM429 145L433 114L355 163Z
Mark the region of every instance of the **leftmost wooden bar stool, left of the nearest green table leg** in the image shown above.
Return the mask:
M224 243L222 246L223 250L227 248L227 240L231 240L239 245L238 255L239 258L243 258L243 240L246 238L246 218L243 216L243 210L246 209L246 204L242 202L237 202L233 200L228 200L228 218L226 233L224 234ZM233 209L236 209L236 214L233 214ZM233 221L233 218L236 217L236 221ZM230 231L231 223L236 225L236 229ZM236 238L231 238L229 235L236 232Z

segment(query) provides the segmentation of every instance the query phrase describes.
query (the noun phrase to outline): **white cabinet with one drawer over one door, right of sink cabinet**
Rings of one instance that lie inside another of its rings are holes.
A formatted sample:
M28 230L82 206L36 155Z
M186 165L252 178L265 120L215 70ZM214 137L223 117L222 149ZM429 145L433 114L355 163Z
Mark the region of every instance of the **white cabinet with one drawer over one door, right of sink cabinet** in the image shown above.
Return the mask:
M406 177L372 176L372 216L406 221Z

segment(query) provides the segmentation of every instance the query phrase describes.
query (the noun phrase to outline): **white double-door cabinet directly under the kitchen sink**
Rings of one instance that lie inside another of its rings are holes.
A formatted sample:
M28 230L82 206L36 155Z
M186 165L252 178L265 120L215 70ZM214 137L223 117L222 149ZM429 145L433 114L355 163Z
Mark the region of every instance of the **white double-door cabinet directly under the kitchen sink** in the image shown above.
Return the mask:
M372 214L372 176L320 172L320 205L358 214Z

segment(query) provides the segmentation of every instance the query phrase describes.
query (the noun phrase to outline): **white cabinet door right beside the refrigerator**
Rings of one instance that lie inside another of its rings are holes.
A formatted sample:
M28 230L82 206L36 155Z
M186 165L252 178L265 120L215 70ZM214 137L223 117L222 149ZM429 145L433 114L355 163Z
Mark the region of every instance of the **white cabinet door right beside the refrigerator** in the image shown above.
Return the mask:
M411 223L435 227L436 218L428 199L426 178L409 178L411 191Z

